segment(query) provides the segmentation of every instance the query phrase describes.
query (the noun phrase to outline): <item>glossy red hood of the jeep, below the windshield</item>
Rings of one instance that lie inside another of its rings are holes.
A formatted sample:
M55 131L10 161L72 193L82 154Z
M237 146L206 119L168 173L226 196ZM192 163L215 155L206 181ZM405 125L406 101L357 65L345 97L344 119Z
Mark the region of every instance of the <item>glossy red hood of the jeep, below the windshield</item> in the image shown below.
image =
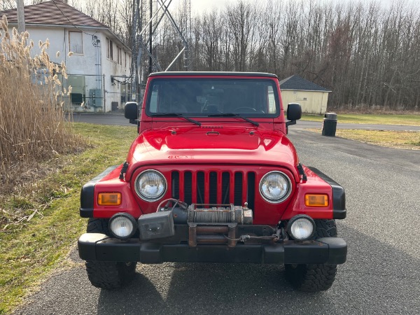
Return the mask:
M127 162L127 178L137 167L179 163L272 165L286 167L299 178L295 148L284 134L244 127L146 130L133 142Z

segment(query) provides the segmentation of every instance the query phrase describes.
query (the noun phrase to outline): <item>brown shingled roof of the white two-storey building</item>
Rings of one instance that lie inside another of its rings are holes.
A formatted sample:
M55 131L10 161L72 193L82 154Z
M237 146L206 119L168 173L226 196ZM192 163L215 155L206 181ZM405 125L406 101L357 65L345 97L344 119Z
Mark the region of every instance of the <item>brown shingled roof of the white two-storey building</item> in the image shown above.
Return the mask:
M18 10L16 8L0 11L0 18L3 15L7 16L8 23L18 23ZM59 0L25 6L25 24L108 28L89 15L85 15L85 13L81 13L79 10Z

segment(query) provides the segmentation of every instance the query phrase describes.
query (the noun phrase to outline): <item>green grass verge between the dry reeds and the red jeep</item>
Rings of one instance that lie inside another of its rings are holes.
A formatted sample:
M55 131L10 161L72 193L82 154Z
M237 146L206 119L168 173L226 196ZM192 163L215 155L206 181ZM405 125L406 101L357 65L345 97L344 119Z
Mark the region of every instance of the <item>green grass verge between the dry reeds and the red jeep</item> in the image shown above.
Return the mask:
M93 148L59 157L65 166L35 183L41 190L26 200L10 197L1 206L10 213L14 207L24 208L28 215L37 212L29 222L0 228L0 314L12 311L53 269L65 265L65 256L87 222L79 217L81 186L106 167L124 162L137 135L135 127L83 123L74 127Z

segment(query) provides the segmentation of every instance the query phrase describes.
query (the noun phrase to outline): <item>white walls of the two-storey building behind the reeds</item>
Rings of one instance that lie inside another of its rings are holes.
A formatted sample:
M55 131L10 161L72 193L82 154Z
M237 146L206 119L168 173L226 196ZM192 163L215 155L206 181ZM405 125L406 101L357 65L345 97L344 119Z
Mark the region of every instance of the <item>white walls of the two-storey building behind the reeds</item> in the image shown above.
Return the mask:
M80 29L76 28L27 25L27 31L29 32L29 40L33 40L35 44L31 51L32 55L38 55L40 52L38 41L44 42L48 38L50 47L47 52L50 55L50 60L57 64L64 61L67 73L73 76L84 76L85 107L73 106L73 111L111 111L111 102L118 102L118 105L122 106L121 91L127 90L128 92L128 85L122 87L120 83L112 84L111 76L118 76L120 81L125 80L122 76L130 76L130 51L125 50L124 45L117 38L110 38L110 33L103 29L85 29L81 32ZM90 34L94 34L99 39L98 47L93 45L94 38ZM113 42L113 60L107 57L106 38ZM76 50L76 53L69 57L68 54L71 50ZM120 63L117 59L118 51L120 51ZM58 57L57 52L59 52ZM125 53L127 54L127 66L125 66L125 60L122 58ZM64 80L63 85L64 87L67 86L66 80ZM78 90L80 90L80 87L78 87ZM90 90L102 90L105 106L103 102L102 107L92 106L92 102L88 98Z

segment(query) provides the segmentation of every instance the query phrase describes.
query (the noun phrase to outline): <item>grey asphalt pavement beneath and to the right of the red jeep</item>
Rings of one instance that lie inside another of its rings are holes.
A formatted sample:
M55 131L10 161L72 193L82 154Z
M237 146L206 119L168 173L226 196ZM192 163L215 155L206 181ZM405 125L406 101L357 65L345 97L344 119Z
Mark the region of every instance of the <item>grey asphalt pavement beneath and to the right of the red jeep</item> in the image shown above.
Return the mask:
M346 190L337 221L348 260L323 293L294 291L283 267L139 265L127 288L87 281L76 250L16 314L420 314L420 151L322 137L290 127L300 160ZM76 240L75 240L76 242Z

